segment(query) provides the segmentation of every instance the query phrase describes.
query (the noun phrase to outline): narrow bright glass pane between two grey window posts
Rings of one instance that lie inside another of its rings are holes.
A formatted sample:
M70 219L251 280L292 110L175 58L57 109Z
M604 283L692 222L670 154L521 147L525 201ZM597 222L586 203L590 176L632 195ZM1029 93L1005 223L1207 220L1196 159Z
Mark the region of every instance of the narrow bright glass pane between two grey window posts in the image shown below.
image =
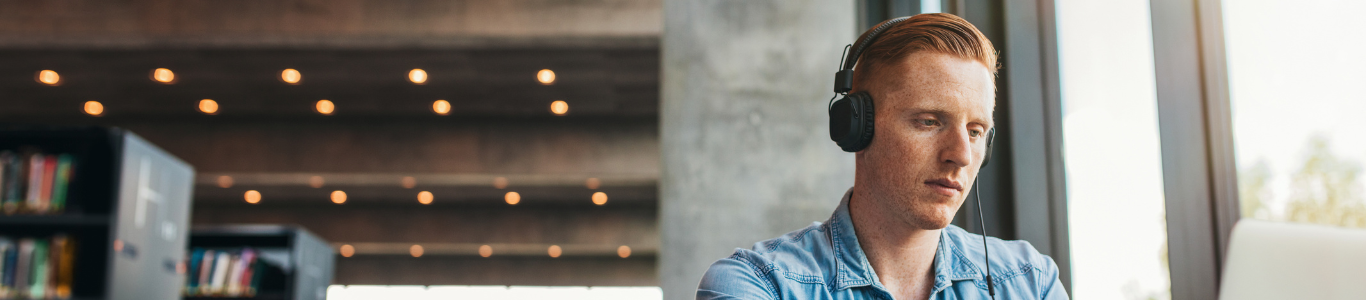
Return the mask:
M1057 1L1074 299L1171 299L1150 23L1147 0Z

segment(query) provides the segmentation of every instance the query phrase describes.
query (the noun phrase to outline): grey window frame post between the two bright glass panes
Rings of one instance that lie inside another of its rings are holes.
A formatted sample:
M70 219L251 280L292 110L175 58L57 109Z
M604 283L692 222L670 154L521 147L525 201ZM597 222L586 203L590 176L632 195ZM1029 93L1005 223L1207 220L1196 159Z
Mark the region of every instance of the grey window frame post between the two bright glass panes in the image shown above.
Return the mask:
M1240 217L1223 3L1150 5L1172 299L1217 299Z

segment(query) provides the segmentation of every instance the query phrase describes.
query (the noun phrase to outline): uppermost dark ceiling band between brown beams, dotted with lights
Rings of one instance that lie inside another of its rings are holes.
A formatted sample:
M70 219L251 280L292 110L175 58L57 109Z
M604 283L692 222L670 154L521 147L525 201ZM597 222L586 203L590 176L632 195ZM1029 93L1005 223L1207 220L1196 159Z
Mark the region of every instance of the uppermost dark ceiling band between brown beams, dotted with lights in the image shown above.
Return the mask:
M11 120L105 116L202 115L199 100L219 102L217 117L317 116L329 100L336 116L430 116L432 102L451 102L452 116L552 117L563 100L571 116L656 116L658 49L157 49L0 50L0 116ZM175 72L172 85L150 79ZM280 80L285 68L302 80ZM422 68L423 85L408 80ZM555 71L553 85L537 71ZM36 80L53 70L61 80Z

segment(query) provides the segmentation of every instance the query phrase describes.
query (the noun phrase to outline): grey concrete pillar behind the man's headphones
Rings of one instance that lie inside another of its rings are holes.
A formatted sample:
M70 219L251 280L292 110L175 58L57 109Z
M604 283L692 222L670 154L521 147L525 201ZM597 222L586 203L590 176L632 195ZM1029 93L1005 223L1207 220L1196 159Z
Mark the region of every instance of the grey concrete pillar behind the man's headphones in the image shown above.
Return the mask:
M852 0L664 0L660 284L693 299L736 247L824 221L854 184L826 100Z

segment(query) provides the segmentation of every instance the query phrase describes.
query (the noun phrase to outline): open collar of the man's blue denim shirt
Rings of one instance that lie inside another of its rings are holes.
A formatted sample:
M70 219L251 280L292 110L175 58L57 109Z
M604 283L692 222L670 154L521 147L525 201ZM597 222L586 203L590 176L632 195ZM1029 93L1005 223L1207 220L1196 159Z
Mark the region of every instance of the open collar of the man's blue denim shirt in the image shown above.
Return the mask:
M854 233L854 221L850 217L850 198L854 190L844 192L840 206L826 221L831 226L831 241L835 245L836 289L874 286L885 289L877 280L873 266L867 262L867 255L858 244ZM953 225L949 225L951 228ZM934 292L943 290L962 280L982 280L979 267L967 259L962 251L962 236L949 235L951 228L940 230L938 250L934 252ZM955 239L958 237L958 239Z

